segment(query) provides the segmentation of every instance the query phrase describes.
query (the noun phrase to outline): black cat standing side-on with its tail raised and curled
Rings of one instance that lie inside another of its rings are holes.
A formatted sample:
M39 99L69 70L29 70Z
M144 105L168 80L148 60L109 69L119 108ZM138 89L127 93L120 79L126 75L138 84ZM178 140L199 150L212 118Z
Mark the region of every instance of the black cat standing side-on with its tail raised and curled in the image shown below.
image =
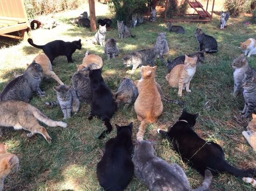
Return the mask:
M66 56L68 63L73 62L72 54L76 49L81 50L82 48L81 39L72 42L54 40L45 45L35 45L31 38L28 38L27 42L36 48L43 49L44 53L50 59L51 63L53 63L54 58L58 56Z

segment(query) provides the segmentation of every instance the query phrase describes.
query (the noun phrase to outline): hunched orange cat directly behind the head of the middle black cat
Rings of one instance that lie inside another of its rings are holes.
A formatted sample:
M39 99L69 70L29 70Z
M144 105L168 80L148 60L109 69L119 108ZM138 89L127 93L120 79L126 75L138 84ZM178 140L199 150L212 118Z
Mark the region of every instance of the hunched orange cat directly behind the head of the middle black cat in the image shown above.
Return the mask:
M82 64L76 65L77 71L82 70L83 67L87 67L87 66L88 66L89 64L91 64L91 63L94 63L94 64L98 64L98 65L99 65L99 67L98 67L98 68L95 68L95 69L100 69L100 68L102 67L102 65L103 65L102 58L99 57L99 56L97 56L97 55L95 55L95 54L89 54L89 55L88 55L88 53L89 53L89 51L87 51L87 52L85 53L85 57L84 57L84 59L83 59Z

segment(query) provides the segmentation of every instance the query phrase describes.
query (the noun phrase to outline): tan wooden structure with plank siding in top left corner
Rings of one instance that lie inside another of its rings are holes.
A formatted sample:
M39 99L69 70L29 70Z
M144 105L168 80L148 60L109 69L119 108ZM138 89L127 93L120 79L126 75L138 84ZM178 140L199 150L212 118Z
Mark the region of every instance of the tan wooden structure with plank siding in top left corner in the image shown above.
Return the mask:
M0 0L0 36L23 39L29 25L23 0ZM17 32L17 35L9 34Z

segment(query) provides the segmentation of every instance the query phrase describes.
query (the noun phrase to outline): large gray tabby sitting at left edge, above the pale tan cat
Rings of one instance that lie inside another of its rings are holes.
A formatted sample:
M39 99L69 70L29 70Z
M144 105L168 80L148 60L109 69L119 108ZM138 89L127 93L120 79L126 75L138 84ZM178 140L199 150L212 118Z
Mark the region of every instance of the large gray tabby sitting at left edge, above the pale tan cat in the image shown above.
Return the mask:
M39 88L42 75L42 67L33 61L22 75L7 84L0 94L0 101L20 100L29 102L33 92L37 96L45 96L45 92Z

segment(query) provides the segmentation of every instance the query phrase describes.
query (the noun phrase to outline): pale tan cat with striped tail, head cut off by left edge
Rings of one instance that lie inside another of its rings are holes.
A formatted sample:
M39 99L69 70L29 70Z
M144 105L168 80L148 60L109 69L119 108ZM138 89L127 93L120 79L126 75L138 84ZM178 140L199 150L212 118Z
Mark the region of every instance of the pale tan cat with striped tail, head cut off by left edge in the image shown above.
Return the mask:
M45 127L40 126L37 120L45 123L50 127L67 127L67 123L62 121L53 121L43 115L37 108L29 103L22 101L4 101L0 102L0 126L13 127L15 130L24 129L30 131L27 137L31 137L34 134L41 134L51 143L52 138L47 133ZM2 136L0 129L0 136Z

